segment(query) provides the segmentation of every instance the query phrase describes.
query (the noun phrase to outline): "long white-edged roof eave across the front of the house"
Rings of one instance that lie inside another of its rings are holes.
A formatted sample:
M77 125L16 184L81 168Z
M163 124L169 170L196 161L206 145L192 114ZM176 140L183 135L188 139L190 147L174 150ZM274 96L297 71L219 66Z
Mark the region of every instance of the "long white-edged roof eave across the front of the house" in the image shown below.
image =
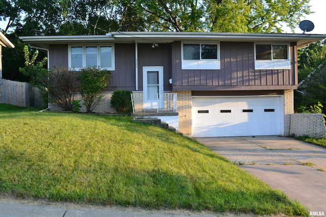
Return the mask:
M112 32L106 35L82 36L29 36L19 39L31 44L77 43L77 42L139 42L139 43L169 43L175 40L219 40L219 41L286 41L297 42L298 49L311 43L323 40L326 35L319 34L274 34L274 33L190 33L190 32Z

